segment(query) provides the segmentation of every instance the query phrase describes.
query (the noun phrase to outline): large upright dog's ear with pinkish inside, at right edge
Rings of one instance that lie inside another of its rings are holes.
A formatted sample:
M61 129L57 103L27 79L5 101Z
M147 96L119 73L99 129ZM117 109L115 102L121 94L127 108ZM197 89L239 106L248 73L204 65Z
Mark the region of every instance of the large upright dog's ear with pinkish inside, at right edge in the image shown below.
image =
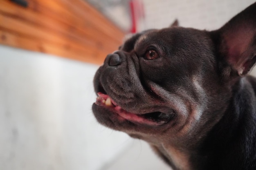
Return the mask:
M256 63L256 3L212 33L219 60L231 66L229 74L247 75Z

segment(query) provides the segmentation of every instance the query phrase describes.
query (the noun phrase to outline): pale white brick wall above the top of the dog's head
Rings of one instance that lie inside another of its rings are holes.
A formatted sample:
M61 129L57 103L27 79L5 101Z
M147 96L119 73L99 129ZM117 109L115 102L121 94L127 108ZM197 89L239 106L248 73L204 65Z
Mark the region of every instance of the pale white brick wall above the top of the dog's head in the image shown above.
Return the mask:
M255 0L143 0L144 29L164 28L175 19L180 26L213 30Z

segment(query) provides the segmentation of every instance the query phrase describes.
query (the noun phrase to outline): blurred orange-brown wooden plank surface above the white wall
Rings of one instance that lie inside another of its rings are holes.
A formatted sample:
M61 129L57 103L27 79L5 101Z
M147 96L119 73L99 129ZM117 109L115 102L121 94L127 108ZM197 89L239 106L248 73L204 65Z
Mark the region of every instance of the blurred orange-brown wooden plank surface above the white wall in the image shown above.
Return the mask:
M84 0L9 0L0 5L0 44L102 64L124 31Z

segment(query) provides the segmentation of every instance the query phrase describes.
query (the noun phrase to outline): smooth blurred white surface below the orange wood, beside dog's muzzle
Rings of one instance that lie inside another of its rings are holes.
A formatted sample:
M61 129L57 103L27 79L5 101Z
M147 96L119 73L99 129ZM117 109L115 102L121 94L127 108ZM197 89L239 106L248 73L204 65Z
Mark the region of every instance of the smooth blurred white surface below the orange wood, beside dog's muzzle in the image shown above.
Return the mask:
M92 114L97 68L0 46L0 170L97 170L130 144Z

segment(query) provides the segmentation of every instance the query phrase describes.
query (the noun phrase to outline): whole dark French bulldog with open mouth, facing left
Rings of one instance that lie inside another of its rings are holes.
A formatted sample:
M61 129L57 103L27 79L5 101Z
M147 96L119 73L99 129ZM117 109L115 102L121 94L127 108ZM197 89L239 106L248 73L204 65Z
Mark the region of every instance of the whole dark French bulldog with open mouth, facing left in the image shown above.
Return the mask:
M99 123L174 170L256 170L256 3L216 31L137 33L94 77Z

